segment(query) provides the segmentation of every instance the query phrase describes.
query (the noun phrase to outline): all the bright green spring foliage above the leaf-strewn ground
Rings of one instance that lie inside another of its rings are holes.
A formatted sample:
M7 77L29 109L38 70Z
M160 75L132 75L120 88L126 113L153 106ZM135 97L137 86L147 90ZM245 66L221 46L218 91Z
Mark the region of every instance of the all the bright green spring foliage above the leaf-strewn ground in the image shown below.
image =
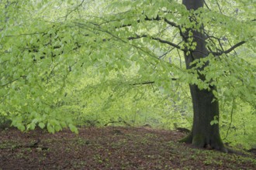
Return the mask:
M39 126L51 133L66 127L77 133L74 125L120 119L188 124L192 83L218 87L220 124L253 138L255 1L205 3L189 12L175 0L3 0L0 116L22 131ZM198 22L205 26L210 53L186 70L183 53L196 44L180 33L199 29ZM196 69L207 62L202 81ZM249 127L239 121L229 126L234 112Z

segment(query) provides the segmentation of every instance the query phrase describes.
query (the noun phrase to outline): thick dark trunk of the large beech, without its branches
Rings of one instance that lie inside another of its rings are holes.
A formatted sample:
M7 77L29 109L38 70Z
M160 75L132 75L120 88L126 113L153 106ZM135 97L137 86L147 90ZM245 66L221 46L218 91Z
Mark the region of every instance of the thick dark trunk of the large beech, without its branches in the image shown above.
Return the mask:
M197 8L202 7L203 2L203 0L182 1L183 5L185 5L188 10L196 10ZM201 26L201 29L203 29L203 26ZM190 63L194 59L207 56L206 37L201 32L192 29L191 31L194 42L196 42L197 45L194 51L191 51L189 54L185 53L185 63L187 69L192 68ZM189 30L187 30L187 32L189 32ZM187 36L189 34L186 33L185 35ZM207 66L207 64L205 66ZM203 68L205 66L203 66ZM205 77L200 75L200 79L205 80ZM197 87L195 84L190 84L189 87L192 95L194 111L193 125L190 134L181 141L190 143L199 148L213 148L220 151L227 151L224 148L223 142L220 138L219 124L210 124L210 122L214 120L214 117L218 119L220 115L218 101L215 100L213 102L213 90L216 90L216 87L210 87L210 90L199 90L199 87Z

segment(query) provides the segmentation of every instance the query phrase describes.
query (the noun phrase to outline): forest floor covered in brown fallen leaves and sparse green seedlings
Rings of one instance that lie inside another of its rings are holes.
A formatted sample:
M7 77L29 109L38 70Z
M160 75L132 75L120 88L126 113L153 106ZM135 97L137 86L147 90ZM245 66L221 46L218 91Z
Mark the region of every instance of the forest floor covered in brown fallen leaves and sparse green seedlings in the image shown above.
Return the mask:
M55 134L0 130L0 169L256 169L255 155L178 143L178 131L80 128Z

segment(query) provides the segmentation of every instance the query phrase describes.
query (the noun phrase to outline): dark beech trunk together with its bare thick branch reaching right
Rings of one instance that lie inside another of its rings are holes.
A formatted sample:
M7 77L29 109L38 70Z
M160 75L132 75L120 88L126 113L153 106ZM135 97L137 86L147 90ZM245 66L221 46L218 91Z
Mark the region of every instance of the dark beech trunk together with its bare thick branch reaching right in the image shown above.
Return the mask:
M184 4L188 10L195 11L198 8L202 8L204 3L204 0L182 1L182 4ZM185 51L185 63L187 69L191 69L195 66L192 64L195 59L205 58L209 55L213 55L214 57L221 56L223 54L227 55L232 52L232 50L245 43L245 40L241 39L240 42L231 46L230 49L220 50L218 53L213 52L210 48L206 48L207 40L211 40L211 37L205 32L203 24L197 21L194 15L190 16L189 19L191 22L195 22L198 26L196 29L193 27L187 29L184 33L185 36L182 36L185 42L188 42L189 32L191 32L193 39L192 42L195 42L196 44L195 49L188 49L189 53L188 51ZM199 72L199 80L206 81L206 74L200 73L200 71L206 69L209 62L210 61L206 61L206 63L204 63L200 68L196 69ZM213 91L217 91L216 85L214 83L210 83L207 89L202 89L199 88L198 85L190 83L189 87L192 96L194 118L191 133L182 141L192 143L192 145L200 148L208 146L217 150L227 151L220 138L219 124L212 123L213 120L218 121L220 117L219 101L216 100L213 93Z

